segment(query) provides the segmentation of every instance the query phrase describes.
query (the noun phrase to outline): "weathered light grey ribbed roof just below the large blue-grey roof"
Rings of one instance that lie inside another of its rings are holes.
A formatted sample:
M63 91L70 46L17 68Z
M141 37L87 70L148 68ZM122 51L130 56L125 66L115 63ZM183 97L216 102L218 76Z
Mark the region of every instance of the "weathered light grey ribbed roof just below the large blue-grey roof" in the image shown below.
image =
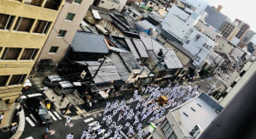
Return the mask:
M96 69L99 68L100 63L89 63L88 69L90 70L90 75L94 75L96 73ZM96 77L93 81L95 83L107 82L107 81L119 81L121 80L117 69L115 69L113 64L102 64L101 69L98 71Z

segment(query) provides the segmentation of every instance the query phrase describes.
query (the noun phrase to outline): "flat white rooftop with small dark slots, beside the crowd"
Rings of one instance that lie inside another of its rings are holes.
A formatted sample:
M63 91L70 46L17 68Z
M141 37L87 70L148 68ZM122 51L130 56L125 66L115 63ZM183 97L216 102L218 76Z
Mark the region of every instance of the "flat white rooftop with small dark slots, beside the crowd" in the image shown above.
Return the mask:
M199 125L204 131L222 109L223 107L213 101L211 97L201 93L199 97L172 109L172 114L183 134L189 136L189 132L195 125Z

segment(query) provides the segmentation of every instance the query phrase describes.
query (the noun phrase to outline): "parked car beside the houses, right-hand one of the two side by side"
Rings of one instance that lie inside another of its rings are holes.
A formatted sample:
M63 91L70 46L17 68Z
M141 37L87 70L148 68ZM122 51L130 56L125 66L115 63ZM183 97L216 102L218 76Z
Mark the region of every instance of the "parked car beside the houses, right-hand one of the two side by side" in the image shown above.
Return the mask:
M58 86L55 86L54 91L57 95L61 95L61 93L73 93L75 92L75 87L69 81L60 81Z

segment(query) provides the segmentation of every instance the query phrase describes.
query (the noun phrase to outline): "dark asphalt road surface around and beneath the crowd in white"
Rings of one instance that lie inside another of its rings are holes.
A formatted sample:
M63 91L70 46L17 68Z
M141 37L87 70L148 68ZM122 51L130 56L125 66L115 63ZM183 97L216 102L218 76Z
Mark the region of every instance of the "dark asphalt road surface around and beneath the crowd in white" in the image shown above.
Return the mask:
M188 92L185 93L185 95L187 95ZM91 109L87 109L87 113L85 114L81 114L81 115L76 115L73 116L73 120L71 121L71 123L73 123L73 127L68 127L65 126L65 122L66 122L66 118L63 118L61 120L59 120L56 116L56 119L52 124L50 124L50 127L52 130L55 131L55 134L50 136L48 135L47 138L61 138L64 139L66 138L67 134L73 132L73 135L75 138L79 138L82 134L83 130L87 130L89 125L91 125L91 123L95 122L95 121L101 121L102 120L102 111L104 110L104 107L106 105L107 102L112 103L113 101L115 101L116 99L119 99L119 102L122 99L128 100L132 97L133 93L127 93L121 97L114 97L114 98L109 98L106 100L103 100L102 102L96 103L96 105L91 108ZM150 94L148 94L150 95ZM145 97L145 96L144 96ZM181 97L182 99L183 97ZM131 103L131 108L136 108L138 102L133 102ZM81 108L83 107L83 105L80 106ZM142 109L139 109L140 111ZM25 115L26 117L29 117L31 120L31 116L29 114L29 112L27 110L25 110ZM55 110L51 110L51 113L55 115ZM111 113L108 113L111 114ZM167 114L167 110L166 110L166 114ZM164 114L165 115L165 114ZM139 116L139 119L141 120L141 116ZM144 120L144 122L142 122L143 124L143 128L146 127L148 125L148 120L149 120L150 116L148 116L148 118L146 120ZM113 117L113 121L116 121L118 119L118 114L115 115ZM33 121L33 120L32 120ZM125 125L127 121L125 120L121 120L119 121L119 123L117 125ZM131 121L130 121L131 123ZM22 136L20 136L20 138L25 138L25 139L39 139L39 138L43 138L44 135L44 131L46 129L46 125L42 126L42 125L35 125L32 126L30 124L28 124L27 120L26 120L26 127L25 127L25 131L23 132ZM137 126L136 126L137 128ZM102 129L105 129L106 131L108 131L108 126L106 126L105 124L102 124ZM113 129L114 131L114 129ZM125 134L127 133L127 130L122 130ZM113 136L113 134L111 135ZM125 137L123 137L125 138Z

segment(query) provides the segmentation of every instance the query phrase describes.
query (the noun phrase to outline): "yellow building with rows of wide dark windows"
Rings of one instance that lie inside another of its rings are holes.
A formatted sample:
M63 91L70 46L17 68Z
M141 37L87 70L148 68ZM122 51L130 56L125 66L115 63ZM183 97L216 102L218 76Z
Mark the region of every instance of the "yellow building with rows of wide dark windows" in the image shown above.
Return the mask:
M63 3L0 1L0 111L15 110L12 104L19 97ZM4 115L6 120L12 118L9 112ZM2 121L3 124L9 125Z

